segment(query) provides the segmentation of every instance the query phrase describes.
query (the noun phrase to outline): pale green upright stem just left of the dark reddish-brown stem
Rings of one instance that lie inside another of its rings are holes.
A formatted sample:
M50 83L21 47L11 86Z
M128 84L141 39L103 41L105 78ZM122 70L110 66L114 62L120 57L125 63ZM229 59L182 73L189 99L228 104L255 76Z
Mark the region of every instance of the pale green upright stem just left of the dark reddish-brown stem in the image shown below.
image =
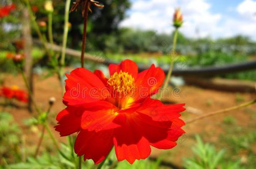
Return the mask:
M67 48L67 39L68 39L68 18L69 18L69 8L70 8L71 0L66 0L65 5L65 23L64 23L64 33L63 33L63 42L62 42L62 50L61 50L61 60L60 66L65 66L65 53Z

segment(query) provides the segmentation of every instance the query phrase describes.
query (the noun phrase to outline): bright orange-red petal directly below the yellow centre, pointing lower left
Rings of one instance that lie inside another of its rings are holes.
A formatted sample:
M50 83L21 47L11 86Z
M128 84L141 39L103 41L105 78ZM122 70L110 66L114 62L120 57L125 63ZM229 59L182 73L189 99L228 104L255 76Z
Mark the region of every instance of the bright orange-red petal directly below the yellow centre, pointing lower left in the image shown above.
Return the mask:
M82 115L81 127L88 131L101 131L114 129L120 125L115 124L113 120L117 116L118 108L108 103L109 107L102 108L96 111L85 111ZM104 105L107 106L107 105Z

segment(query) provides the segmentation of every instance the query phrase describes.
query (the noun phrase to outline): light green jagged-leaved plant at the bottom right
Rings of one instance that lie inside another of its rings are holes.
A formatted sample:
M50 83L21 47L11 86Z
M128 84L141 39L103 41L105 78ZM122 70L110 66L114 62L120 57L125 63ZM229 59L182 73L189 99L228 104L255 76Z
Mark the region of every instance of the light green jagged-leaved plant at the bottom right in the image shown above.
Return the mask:
M192 148L193 158L185 159L186 169L241 169L240 161L225 161L225 151L216 152L214 146L204 143L196 136L197 144Z

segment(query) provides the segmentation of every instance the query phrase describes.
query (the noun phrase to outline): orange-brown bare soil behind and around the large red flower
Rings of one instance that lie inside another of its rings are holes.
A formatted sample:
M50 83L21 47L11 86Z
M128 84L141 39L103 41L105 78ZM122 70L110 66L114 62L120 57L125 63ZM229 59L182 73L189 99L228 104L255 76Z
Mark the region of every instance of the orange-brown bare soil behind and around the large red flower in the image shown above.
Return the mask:
M24 88L24 83L21 76L13 76L10 74L4 75L4 83L6 86L17 85L20 88ZM52 126L52 132L55 134L57 139L65 141L64 137L60 137L59 134L54 131L53 126L55 126L55 117L59 111L61 111L65 106L62 103L62 93L60 84L57 77L53 76L47 79L43 79L35 75L34 78L34 91L35 99L44 111L48 107L48 100L50 97L56 98L56 103L52 107L50 112L50 125ZM183 86L180 87L180 92L175 94L175 97L171 97L170 101L175 103L185 103L187 111L182 113L182 119L188 120L206 114L212 111L220 110L223 108L228 108L236 106L238 104L251 101L256 98L256 93L235 93L235 92L224 92L215 91L212 89L202 89L194 86ZM34 145L39 139L39 134L34 134L24 125L24 119L31 117L31 114L25 108L26 105L18 103L21 105L20 108L15 107L5 107L5 111L10 112L15 121L21 126L24 133L26 134L26 140L28 145ZM0 109L3 107L0 107ZM248 113L249 112L249 113ZM224 132L222 127L223 119L226 116L232 116L237 124L240 126L251 127L256 129L256 121L252 120L251 113L255 114L256 105L249 106L247 108L241 108L236 111L230 111L229 113L209 117L207 119L196 121L192 124L188 124L183 127L186 134L183 135L178 140L178 146L172 150L158 150L152 148L152 156L158 156L162 153L168 154L167 160L172 161L175 164L180 164L184 156L191 156L191 146L195 144L194 136L195 134L204 134L206 141L218 142L219 134ZM37 129L34 132L39 132Z

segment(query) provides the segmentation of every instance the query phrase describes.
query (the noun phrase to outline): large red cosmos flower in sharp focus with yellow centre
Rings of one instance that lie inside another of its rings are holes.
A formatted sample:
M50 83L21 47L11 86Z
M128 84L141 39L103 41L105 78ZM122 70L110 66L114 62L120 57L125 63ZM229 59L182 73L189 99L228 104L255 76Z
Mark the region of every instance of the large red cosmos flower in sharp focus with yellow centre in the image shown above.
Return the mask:
M77 68L66 75L63 103L55 130L60 136L78 132L75 152L99 164L113 146L118 161L146 159L150 146L171 149L185 133L179 119L185 104L164 105L150 98L165 79L161 68L152 65L138 73L131 60L110 64L110 78Z

